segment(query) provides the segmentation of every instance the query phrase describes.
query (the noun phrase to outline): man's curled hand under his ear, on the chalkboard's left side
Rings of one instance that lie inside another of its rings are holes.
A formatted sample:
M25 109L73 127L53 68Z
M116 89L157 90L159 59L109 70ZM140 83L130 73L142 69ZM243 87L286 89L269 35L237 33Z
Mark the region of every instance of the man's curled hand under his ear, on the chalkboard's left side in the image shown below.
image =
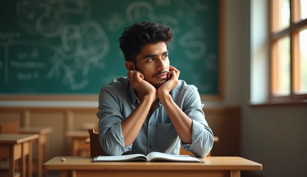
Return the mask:
M149 82L144 80L144 75L137 70L131 70L127 73L127 77L130 81L131 87L144 95L154 95L156 96L157 90Z

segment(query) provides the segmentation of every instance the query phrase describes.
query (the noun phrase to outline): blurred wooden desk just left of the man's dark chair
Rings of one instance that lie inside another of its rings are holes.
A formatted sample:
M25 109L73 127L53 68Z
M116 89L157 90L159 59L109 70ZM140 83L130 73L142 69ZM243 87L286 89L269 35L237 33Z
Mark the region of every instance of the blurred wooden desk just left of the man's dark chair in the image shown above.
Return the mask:
M88 131L69 131L66 132L66 137L72 138L72 156L88 156L90 145L85 144L85 140L90 137Z

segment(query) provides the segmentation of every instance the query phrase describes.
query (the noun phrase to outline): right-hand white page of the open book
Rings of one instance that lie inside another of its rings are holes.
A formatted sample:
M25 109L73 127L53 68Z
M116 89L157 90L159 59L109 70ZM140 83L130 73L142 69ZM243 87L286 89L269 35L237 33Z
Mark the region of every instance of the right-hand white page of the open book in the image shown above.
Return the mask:
M195 157L189 155L173 155L159 152L152 152L146 156L148 161L152 160L169 160L178 162L203 162Z

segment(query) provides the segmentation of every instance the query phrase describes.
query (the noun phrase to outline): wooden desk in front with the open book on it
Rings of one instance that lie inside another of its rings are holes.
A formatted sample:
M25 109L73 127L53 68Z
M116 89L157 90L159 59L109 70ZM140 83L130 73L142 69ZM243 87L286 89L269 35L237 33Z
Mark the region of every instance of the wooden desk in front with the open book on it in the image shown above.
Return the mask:
M66 162L61 162L65 158ZM91 157L54 157L44 170L60 170L60 176L207 176L239 177L241 170L262 170L262 164L241 157L206 157L205 163L181 162L91 162Z

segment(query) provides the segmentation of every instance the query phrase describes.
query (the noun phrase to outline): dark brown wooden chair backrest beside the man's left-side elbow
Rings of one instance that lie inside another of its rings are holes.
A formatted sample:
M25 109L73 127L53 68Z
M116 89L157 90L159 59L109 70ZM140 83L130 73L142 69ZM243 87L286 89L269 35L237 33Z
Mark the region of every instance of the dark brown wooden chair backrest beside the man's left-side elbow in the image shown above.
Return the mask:
M96 133L94 129L88 130L88 132L90 133L91 157L107 156L99 143L98 133Z

